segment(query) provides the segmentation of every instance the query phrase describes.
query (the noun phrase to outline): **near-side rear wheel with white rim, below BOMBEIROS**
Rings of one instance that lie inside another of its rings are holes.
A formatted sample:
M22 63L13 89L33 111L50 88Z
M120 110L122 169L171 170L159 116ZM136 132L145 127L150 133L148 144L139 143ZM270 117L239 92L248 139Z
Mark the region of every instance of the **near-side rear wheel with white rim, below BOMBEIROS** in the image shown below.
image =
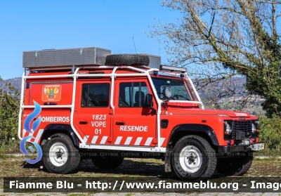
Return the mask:
M70 137L63 133L55 133L50 138L43 149L46 169L55 174L72 173L80 162L79 150L75 148Z

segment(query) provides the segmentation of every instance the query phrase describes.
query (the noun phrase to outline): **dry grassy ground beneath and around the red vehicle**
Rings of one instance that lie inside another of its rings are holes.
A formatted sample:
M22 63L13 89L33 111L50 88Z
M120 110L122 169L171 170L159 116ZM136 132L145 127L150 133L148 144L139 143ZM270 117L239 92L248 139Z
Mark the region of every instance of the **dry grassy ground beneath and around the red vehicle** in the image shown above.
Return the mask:
M80 162L77 171L74 174L51 174L46 169L40 169L43 166L41 162L37 164L28 164L25 162L24 157L14 157L7 155L0 155L0 195L3 192L3 177L119 177L120 179L126 177L148 177L150 178L161 178L166 182L171 181L169 177L171 174L164 172L164 162L160 159L131 159L126 158L119 168L115 170L101 170L96 168L90 159L85 159ZM281 177L281 160L277 159L254 159L254 162L244 177ZM215 173L211 181L224 182L226 178L221 178L218 173ZM138 193L123 193L117 192L121 195L138 195ZM67 193L66 195L93 195L100 193ZM155 195L163 195L161 193L153 193ZM200 195L201 193L190 193L188 195ZM6 193L4 193L6 195ZM18 193L17 195L22 195ZM45 195L37 193L34 195ZM48 194L50 195L50 194ZM51 195L61 195L52 193ZM112 195L111 193L103 193L103 195ZM113 194L115 195L115 194Z

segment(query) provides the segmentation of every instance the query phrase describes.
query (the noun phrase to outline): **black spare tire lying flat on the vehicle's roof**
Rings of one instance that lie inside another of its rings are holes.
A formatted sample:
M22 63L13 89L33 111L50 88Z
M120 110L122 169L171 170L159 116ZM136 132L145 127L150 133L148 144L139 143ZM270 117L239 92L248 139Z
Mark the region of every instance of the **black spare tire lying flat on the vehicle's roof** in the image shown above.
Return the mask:
M148 55L140 54L115 54L107 55L105 65L149 65Z

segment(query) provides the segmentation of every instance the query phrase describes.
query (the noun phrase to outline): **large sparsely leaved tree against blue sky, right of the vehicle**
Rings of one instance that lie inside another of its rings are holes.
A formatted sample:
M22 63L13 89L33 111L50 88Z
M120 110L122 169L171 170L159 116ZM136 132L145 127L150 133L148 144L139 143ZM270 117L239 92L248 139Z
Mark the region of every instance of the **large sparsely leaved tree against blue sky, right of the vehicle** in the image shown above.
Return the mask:
M165 0L164 6L183 17L160 22L151 35L164 39L174 56L172 64L189 67L197 89L213 90L215 100L243 93L247 102L258 95L265 99L262 107L268 117L281 117L280 4L280 0ZM229 84L235 76L247 77L244 88ZM213 88L218 83L228 85Z

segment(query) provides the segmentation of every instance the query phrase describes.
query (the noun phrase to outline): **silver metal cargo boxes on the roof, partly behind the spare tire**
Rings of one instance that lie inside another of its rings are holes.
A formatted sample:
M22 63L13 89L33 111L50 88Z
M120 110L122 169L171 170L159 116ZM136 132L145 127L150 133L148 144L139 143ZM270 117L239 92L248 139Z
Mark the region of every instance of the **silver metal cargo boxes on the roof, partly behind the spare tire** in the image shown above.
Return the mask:
M69 70L74 67L87 67L91 69L105 65L105 58L111 51L105 48L68 48L68 49L45 49L42 51L24 51L22 54L22 67L25 70ZM150 58L149 68L159 68L161 57L148 55ZM107 66L111 68L110 66ZM106 67L104 67L106 68Z

